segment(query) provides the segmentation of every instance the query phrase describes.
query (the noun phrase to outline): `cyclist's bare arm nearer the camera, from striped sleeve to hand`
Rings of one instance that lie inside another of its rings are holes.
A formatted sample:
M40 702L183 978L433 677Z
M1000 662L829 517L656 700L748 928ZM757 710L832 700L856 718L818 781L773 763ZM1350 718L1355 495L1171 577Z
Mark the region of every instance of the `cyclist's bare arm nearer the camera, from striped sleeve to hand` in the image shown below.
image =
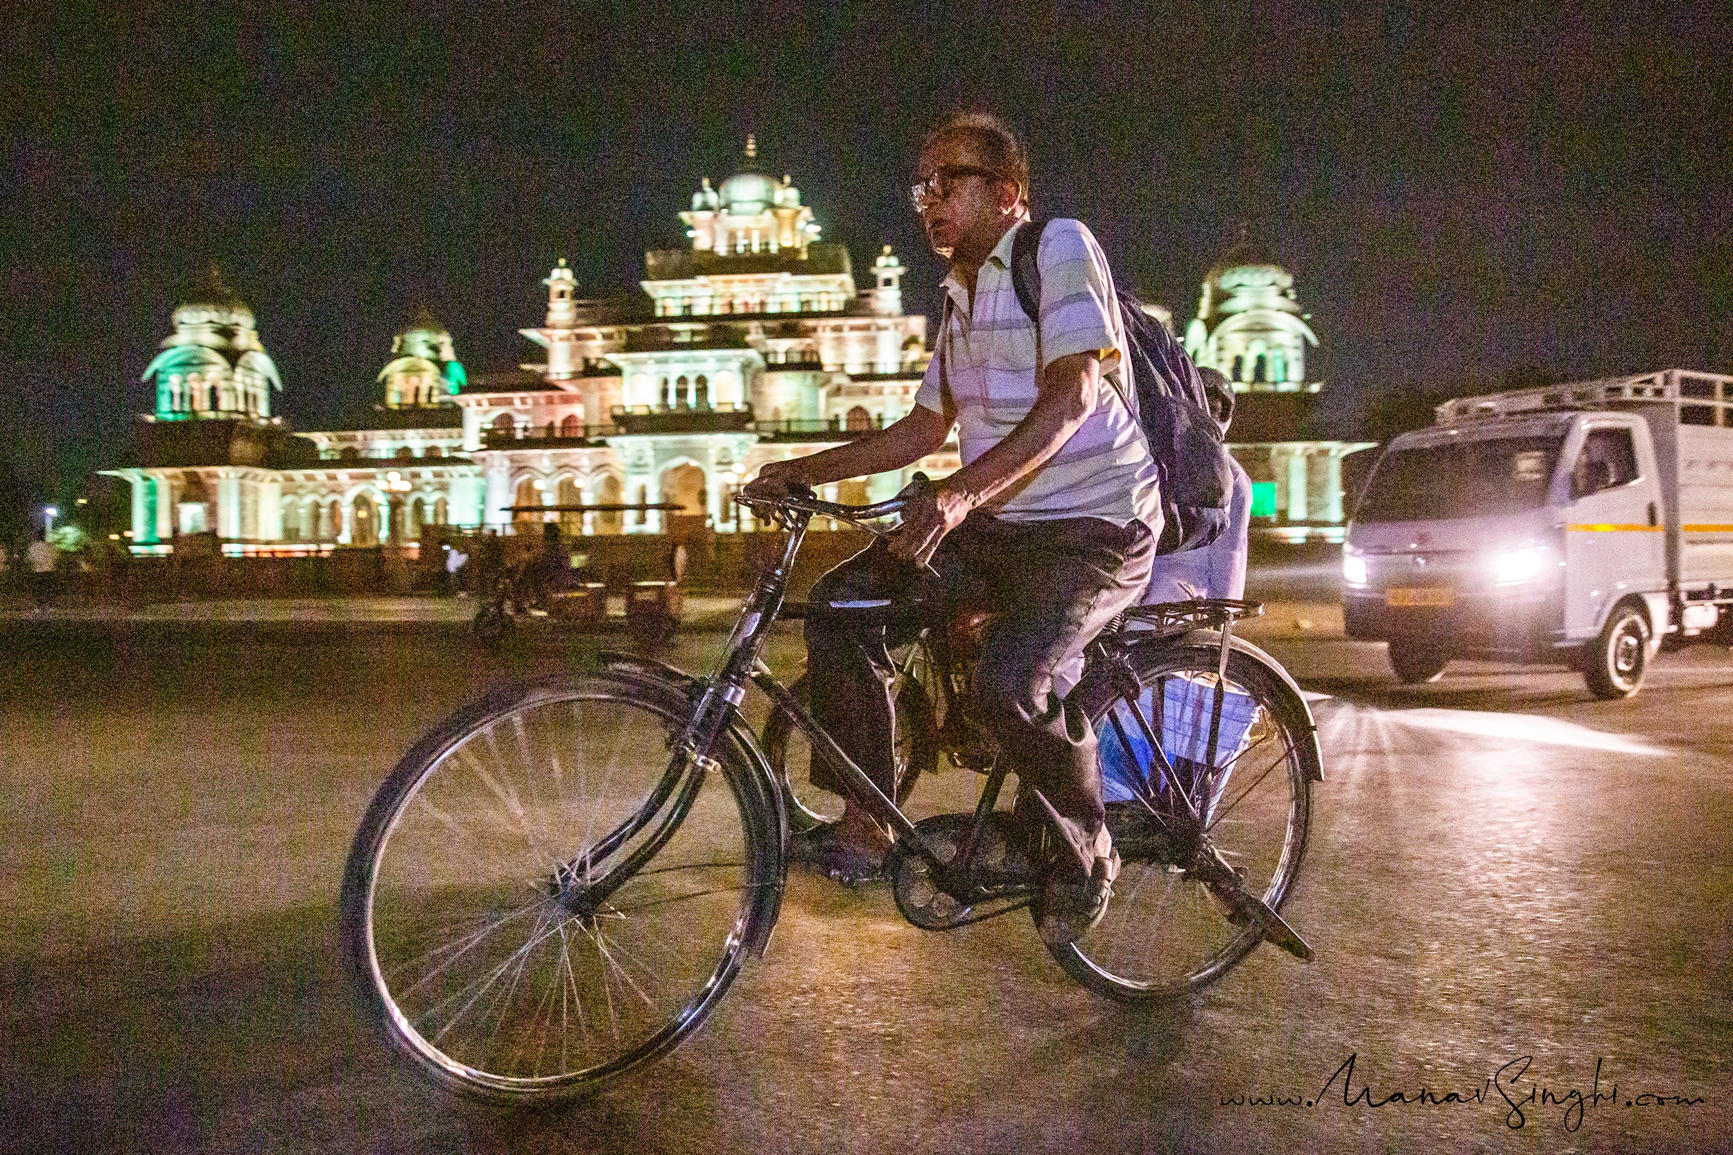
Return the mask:
M1071 353L1047 365L1022 421L998 445L941 480L931 506L905 511L891 552L915 563L929 561L970 509L993 500L1057 454L1095 409L1099 391L1097 353Z

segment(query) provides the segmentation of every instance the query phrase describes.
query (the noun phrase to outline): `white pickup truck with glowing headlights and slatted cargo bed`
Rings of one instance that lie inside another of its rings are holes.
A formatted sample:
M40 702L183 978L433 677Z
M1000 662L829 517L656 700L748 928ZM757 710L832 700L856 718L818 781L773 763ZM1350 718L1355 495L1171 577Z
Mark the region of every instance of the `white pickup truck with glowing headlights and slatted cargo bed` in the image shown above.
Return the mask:
M1404 682L1565 661L1629 698L1664 641L1733 641L1733 377L1667 369L1445 402L1393 438L1341 552L1348 637Z

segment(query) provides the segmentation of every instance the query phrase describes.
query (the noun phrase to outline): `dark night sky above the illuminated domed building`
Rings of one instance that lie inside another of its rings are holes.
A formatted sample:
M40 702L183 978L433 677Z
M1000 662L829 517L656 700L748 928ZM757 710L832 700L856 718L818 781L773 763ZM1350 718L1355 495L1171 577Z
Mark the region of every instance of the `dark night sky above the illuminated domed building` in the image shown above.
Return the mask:
M674 213L749 130L825 239L858 267L896 244L931 308L939 267L903 189L920 130L958 102L1022 126L1043 211L1087 220L1180 324L1249 222L1296 275L1338 417L1522 364L1733 371L1724 5L432 12L14 17L0 459L113 462L210 261L302 428L374 400L421 303L471 372L530 360L516 329L553 260L587 294L634 284L645 248L685 244Z

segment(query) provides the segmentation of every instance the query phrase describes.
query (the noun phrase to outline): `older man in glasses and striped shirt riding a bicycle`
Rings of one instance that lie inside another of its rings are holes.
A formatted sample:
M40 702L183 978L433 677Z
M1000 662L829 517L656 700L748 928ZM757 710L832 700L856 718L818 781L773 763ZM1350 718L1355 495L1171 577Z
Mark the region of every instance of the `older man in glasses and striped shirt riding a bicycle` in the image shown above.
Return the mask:
M1100 918L1118 855L1104 824L1095 734L1054 693L1054 672L1142 594L1161 506L1154 459L1120 393L1128 383L1120 381L1125 334L1113 275L1083 223L1054 220L1043 230L1038 326L1017 303L1009 258L1029 218L1028 197L1022 142L998 118L960 113L927 133L912 199L950 275L915 407L847 445L764 466L747 497L901 469L958 429L962 469L905 490L898 532L815 585L811 707L879 790L896 797L887 646L913 627L849 625L827 620L823 606L906 597L910 563L931 563L939 577L917 578L924 596L938 585L948 603L995 613L972 710L1017 771L1019 828L1040 850L1047 887L1042 933L1062 942ZM816 784L835 786L815 769ZM887 833L846 798L839 823L802 850L834 874L860 876L882 862L887 845Z

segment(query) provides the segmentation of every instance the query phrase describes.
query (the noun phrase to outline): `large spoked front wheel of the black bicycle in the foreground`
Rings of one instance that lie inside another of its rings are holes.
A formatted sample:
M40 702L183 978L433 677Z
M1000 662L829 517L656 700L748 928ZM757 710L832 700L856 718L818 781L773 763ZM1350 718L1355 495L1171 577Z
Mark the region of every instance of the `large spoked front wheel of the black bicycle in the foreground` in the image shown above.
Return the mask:
M705 771L672 753L690 712L672 689L542 679L459 712L380 790L343 945L435 1082L513 1105L582 1094L726 992L775 916L778 831L731 755Z

